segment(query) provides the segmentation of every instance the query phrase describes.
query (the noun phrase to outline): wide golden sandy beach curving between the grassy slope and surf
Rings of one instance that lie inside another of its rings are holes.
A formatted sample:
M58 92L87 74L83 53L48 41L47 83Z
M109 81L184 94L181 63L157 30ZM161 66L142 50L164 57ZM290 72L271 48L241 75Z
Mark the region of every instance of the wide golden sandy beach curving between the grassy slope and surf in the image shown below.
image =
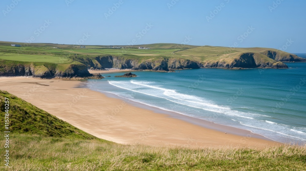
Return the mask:
M127 101L84 88L84 84L81 81L62 79L0 77L1 90L6 90L87 133L116 143L198 147L265 147L281 144L256 138L260 135L247 130L220 128L229 130L225 134L199 126L197 123L202 123L200 119L187 122L179 119L179 114L157 113L135 107ZM231 133L235 131L240 131L239 135Z

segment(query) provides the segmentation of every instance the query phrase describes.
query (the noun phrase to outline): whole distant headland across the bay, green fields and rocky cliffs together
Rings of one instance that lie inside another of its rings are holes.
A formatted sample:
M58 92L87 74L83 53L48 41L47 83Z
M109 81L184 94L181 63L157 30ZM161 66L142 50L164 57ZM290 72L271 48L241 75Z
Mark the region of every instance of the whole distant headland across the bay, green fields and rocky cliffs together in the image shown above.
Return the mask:
M20 44L21 47L11 44ZM140 46L150 49L138 49ZM88 77L90 74L87 69L104 68L152 71L200 67L287 68L282 62L306 62L306 59L270 48L228 48L170 43L113 45L112 48L109 45L86 45L86 48L80 48L79 45L0 42L2 76ZM35 72L35 66L39 66L39 74Z

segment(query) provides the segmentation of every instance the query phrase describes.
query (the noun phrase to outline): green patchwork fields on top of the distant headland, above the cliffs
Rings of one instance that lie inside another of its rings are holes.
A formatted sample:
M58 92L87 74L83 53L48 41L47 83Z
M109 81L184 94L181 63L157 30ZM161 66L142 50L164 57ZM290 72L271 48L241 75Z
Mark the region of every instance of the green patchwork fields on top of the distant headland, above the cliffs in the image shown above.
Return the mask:
M263 53L268 50L276 51L278 53L282 53L287 55L289 53L282 52L277 49L269 49L269 48L227 48L227 47L215 47L215 46L192 46L192 45L178 45L178 44L166 44L166 43L158 43L158 44L150 44L150 45L133 45L133 46L120 46L124 47L122 49L117 48L109 48L106 45L86 45L86 48L80 48L78 45L58 45L58 44L48 44L48 43L18 43L22 45L22 47L13 47L10 46L11 42L0 42L0 52L7 53L19 53L19 54L29 54L29 53L37 53L39 55L51 55L54 56L54 60L51 58L44 58L46 56L42 56L42 59L46 59L48 62L58 62L65 63L70 62L69 60L59 59L55 56L71 56L75 54L79 55L88 55L88 56L106 56L106 55L114 55L114 56L124 56L130 55L135 58L139 56L162 56L162 57L175 57L175 58L183 58L190 60L197 60L200 62L205 62L209 60L220 60L222 58L235 58L239 56L241 53ZM16 43L17 44L17 43ZM138 47L148 47L150 49L138 49ZM115 47L115 46L113 46ZM18 55L19 55L18 54ZM15 56L16 60L27 61L24 60L23 57L18 58ZM1 59L10 60L8 57L1 57ZM36 59L36 58L33 58ZM29 59L32 61L31 59Z

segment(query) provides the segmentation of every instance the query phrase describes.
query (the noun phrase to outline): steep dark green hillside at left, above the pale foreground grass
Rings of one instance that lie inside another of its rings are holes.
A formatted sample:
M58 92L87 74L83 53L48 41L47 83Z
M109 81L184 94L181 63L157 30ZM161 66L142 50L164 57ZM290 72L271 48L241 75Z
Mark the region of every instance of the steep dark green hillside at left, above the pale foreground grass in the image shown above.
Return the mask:
M4 126L0 131L10 131L11 133L37 134L42 136L66 137L77 139L98 139L84 131L77 129L61 119L43 111L32 104L0 90L0 117L4 118L4 99L9 99L9 130Z

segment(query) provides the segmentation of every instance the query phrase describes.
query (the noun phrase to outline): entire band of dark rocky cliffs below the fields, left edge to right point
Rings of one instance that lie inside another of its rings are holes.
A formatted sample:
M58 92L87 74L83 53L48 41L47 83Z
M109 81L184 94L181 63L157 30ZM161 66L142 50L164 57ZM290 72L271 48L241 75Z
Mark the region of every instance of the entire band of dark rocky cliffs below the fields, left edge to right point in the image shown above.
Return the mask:
M121 56L82 56L71 57L79 64L18 63L1 60L0 76L33 76L35 78L72 78L90 77L88 69L132 69L167 72L171 69L197 68L288 68L283 62L306 62L306 59L293 54L282 54L275 51L263 53L232 53L232 56L221 57L220 60L196 61L184 58L155 57L138 59ZM65 64L67 65L67 64Z

